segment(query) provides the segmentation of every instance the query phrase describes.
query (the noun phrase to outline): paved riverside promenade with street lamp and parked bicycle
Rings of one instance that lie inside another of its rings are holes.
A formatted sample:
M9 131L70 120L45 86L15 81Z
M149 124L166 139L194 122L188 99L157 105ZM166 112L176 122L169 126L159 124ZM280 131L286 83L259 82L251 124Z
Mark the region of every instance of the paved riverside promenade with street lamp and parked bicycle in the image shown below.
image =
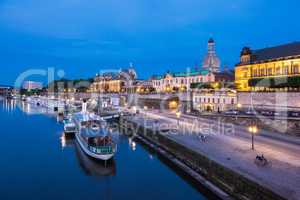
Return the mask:
M149 121L148 126L168 124L176 127L179 124L178 134L169 134L168 137L207 155L214 161L270 188L287 199L300 199L300 145L297 145L297 142L274 139L268 137L268 134L272 133L263 131L264 135L255 137L255 150L253 151L251 150L251 136L244 127L234 126L233 133L224 134L223 129L218 128L217 125L214 126L214 123L218 122L195 118L198 121L197 125L212 125L210 126L211 134L208 134L205 141L202 141L197 134L203 132L203 128L195 129L195 119L191 120L191 117L182 115L178 120L174 113L141 111L141 114L133 120L144 123L146 119ZM158 122L154 123L153 119ZM186 132L192 129L194 134ZM262 167L254 163L256 155L261 154L271 162L271 165Z

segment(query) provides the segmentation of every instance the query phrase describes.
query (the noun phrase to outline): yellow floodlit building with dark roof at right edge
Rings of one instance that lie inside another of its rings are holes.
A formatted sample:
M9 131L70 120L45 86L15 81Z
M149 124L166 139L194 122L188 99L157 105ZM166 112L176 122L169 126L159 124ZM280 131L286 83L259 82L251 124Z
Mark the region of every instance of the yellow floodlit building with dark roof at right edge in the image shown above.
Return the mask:
M244 47L235 84L238 91L299 91L300 42L259 50Z

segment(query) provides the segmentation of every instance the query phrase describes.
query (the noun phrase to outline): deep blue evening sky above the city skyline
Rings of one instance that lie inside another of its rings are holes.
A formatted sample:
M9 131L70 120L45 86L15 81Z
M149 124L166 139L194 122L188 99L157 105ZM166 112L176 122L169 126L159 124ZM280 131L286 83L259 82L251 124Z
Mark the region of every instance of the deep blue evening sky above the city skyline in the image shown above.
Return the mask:
M0 0L0 83L54 67L92 77L132 62L139 78L202 62L213 37L222 66L243 46L300 40L298 0ZM32 77L32 79L42 79Z

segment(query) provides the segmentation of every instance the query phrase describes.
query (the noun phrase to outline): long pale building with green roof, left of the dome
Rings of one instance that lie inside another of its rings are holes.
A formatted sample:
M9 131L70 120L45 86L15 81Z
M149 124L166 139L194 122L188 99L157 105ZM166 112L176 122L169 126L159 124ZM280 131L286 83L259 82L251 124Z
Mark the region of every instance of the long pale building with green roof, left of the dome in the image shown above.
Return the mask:
M208 70L167 72L163 76L152 77L152 85L156 92L185 92L190 91L192 83L210 83L214 81L214 74Z

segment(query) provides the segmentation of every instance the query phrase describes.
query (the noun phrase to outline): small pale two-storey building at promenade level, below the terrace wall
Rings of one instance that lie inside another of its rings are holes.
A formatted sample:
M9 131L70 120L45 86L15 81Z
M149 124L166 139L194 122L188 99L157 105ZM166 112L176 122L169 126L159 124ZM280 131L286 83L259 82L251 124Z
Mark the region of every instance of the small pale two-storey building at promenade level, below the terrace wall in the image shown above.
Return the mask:
M235 109L237 93L230 89L194 90L192 92L193 109L200 112L223 112Z

